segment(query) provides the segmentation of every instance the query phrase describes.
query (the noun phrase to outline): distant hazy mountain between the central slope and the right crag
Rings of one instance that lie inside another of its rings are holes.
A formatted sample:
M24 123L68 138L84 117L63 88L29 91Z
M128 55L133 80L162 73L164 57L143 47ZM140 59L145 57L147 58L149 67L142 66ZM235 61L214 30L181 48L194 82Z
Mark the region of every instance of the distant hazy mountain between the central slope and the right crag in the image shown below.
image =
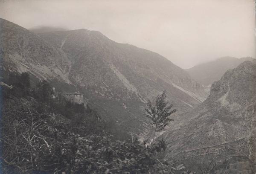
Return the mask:
M215 61L210 61L204 64L196 65L186 71L189 75L204 86L211 85L214 81L221 79L222 75L227 70L236 68L244 61L251 61L253 58L233 58L223 57Z

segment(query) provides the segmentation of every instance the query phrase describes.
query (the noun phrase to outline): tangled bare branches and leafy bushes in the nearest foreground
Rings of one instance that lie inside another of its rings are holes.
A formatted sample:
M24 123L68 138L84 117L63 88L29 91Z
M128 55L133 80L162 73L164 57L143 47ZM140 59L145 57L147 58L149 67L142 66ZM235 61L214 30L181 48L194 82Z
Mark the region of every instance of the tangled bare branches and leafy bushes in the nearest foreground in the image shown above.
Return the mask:
M163 173L166 166L155 156L165 149L163 141L146 147L104 133L82 136L49 108L38 113L38 106L20 99L5 102L1 146L6 164L20 171L67 174Z

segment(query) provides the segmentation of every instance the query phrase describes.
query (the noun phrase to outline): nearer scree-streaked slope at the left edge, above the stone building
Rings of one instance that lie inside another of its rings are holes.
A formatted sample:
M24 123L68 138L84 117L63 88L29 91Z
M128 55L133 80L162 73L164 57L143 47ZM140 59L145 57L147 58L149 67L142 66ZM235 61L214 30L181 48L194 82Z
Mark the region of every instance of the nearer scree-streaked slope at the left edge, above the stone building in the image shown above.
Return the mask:
M23 27L0 18L1 70L29 71L37 78L69 82L70 61L60 49Z

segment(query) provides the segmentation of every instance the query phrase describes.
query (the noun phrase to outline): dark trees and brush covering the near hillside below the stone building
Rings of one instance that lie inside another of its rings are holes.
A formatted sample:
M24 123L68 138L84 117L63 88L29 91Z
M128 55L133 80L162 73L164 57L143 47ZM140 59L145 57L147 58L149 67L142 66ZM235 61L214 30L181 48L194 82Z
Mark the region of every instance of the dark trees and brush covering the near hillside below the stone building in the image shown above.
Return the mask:
M167 173L168 165L156 156L166 148L163 141L145 146L137 139L116 140L106 128L107 122L95 111L51 99L47 81L30 88L29 83L15 78L13 88L3 91L3 173Z

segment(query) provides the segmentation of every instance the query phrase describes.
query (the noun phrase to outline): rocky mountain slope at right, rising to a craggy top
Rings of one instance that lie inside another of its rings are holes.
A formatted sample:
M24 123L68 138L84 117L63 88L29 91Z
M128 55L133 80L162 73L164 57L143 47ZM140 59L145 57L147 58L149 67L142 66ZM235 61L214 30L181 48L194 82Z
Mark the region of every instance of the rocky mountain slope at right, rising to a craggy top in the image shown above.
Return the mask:
M255 172L256 61L245 61L212 84L209 97L187 113L187 122L161 136L165 158L200 171L201 162L217 162L230 174Z

